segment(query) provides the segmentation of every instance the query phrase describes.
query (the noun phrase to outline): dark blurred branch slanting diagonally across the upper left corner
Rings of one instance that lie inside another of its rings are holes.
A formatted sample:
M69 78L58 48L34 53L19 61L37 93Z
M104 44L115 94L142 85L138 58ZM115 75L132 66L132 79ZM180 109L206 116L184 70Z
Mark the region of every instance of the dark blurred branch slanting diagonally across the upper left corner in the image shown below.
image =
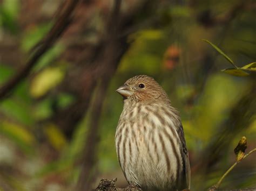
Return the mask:
M46 34L43 40L38 43L38 46L32 51L32 55L29 56L29 60L26 62L23 68L19 70L8 82L6 82L0 88L0 100L8 95L26 76L30 74L33 66L36 65L37 61L42 57L42 55L47 52L56 40L61 36L61 34L66 30L67 26L70 24L71 15L73 10L76 8L80 0L67 0L64 8L59 10L57 15L59 16L52 26L51 30Z

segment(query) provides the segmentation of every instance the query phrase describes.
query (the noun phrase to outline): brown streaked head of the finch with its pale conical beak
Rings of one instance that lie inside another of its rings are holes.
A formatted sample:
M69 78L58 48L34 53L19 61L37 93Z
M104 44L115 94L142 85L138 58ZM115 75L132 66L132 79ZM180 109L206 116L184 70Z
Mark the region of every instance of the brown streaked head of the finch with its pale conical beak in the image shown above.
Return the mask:
M164 89L161 88L156 80L147 75L138 75L130 78L116 91L127 100L137 102L169 102Z

